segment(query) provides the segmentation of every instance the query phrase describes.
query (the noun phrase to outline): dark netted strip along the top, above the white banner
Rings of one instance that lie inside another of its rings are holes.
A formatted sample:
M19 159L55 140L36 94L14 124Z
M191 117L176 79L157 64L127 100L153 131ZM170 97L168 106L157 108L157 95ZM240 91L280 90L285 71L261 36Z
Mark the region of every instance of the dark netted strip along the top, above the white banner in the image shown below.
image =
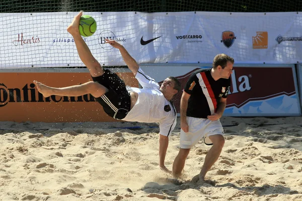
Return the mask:
M2 0L2 13L36 13L36 12L183 12L183 11L210 11L210 12L295 12L302 10L302 1L281 0L273 1L224 1L224 0Z

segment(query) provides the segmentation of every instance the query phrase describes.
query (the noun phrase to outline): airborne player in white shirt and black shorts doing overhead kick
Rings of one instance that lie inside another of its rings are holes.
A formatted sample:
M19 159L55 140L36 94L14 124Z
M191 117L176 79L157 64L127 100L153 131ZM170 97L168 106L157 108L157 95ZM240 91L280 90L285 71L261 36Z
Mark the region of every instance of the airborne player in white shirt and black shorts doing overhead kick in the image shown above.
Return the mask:
M44 97L50 95L81 96L90 93L112 118L130 122L159 123L160 168L171 172L165 166L165 157L169 137L176 125L176 110L172 104L172 98L180 90L180 82L175 77L168 77L160 87L154 79L144 74L121 44L105 39L106 43L119 49L128 68L142 86L142 88L126 87L123 80L110 70L103 69L93 57L79 32L81 16L82 12L74 17L67 31L73 36L79 56L89 69L93 81L62 88L50 87L34 81L38 91Z

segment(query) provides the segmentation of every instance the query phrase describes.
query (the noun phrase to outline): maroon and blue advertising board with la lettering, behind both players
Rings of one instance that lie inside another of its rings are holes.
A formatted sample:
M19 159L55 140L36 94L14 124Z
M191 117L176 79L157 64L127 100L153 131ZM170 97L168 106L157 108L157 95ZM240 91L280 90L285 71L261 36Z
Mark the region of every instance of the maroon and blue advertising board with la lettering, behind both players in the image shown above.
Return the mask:
M141 66L146 74L162 82L168 76L177 77L184 88L192 72L204 66ZM179 113L182 92L174 98ZM300 116L298 83L294 65L240 65L231 75L231 90L224 116Z

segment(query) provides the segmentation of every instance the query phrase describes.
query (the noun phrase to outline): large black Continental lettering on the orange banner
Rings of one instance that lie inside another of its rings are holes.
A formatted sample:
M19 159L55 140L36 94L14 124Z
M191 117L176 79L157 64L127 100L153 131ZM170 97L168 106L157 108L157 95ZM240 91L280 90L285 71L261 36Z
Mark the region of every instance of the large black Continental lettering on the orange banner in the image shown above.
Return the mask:
M22 88L8 88L4 83L0 83L0 108L9 103L24 102L95 102L91 94L82 96L55 96L43 97L35 88L35 84L25 84Z

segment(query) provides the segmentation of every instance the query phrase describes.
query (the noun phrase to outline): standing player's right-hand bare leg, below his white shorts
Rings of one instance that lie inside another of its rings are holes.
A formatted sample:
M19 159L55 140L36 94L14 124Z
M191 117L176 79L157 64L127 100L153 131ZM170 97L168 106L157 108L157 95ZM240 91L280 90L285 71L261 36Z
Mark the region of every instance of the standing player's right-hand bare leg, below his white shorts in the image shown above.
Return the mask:
M213 146L205 156L203 166L199 173L199 181L204 181L205 174L209 171L209 169L220 156L222 147L224 145L224 138L222 135L212 135L209 136L209 138L213 142Z

